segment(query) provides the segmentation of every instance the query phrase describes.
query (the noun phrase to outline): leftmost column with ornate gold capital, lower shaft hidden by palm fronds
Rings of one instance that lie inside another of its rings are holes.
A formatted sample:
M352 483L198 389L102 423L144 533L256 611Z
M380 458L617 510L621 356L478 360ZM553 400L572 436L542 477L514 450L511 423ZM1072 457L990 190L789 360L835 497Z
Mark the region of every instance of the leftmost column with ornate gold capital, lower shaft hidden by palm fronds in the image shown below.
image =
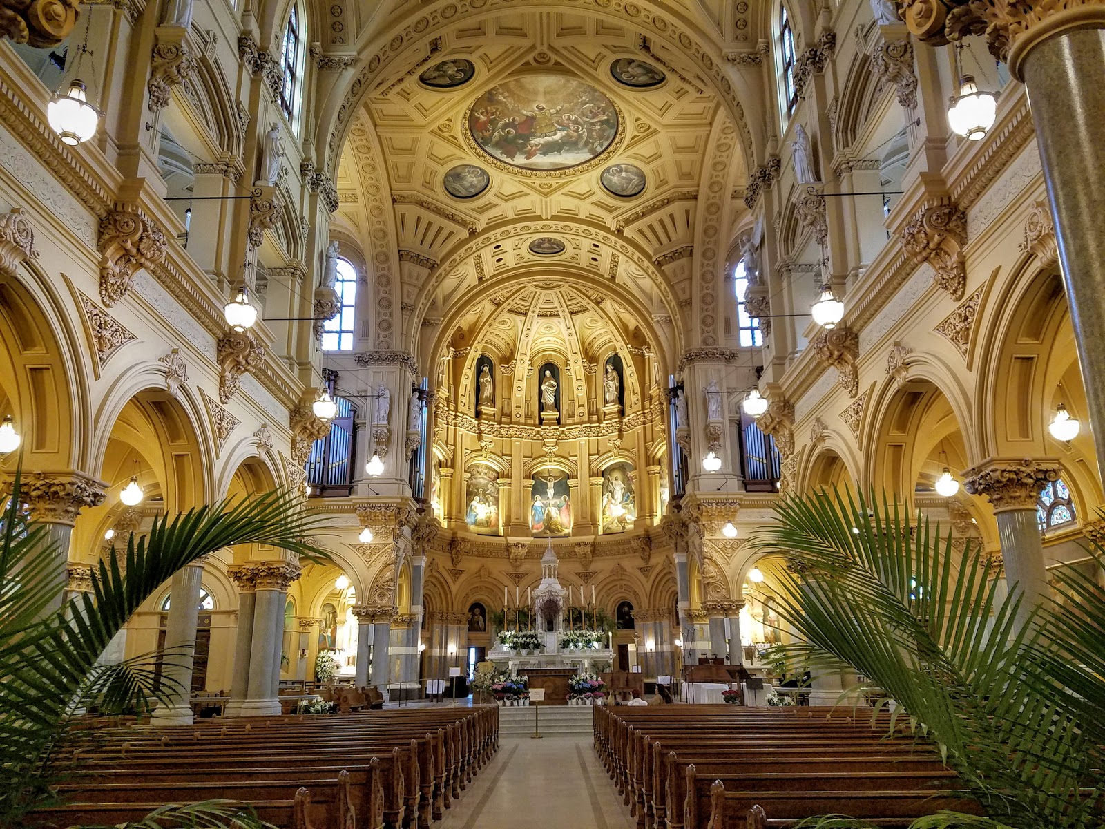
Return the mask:
M46 608L53 612L69 597L65 595L73 524L81 510L104 503L107 484L83 472L30 472L20 481L20 500L31 510L31 521L46 528L54 559L57 562L57 597Z

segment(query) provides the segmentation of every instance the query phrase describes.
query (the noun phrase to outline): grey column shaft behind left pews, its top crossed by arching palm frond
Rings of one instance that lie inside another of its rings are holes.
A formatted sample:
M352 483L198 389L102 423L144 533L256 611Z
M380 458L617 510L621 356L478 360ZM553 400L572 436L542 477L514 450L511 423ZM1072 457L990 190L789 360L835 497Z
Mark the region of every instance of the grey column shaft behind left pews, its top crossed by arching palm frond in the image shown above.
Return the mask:
M190 725L192 706L192 658L196 626L199 623L200 581L207 556L172 574L169 588L169 618L165 628L161 675L167 680L166 697L149 718L150 725Z

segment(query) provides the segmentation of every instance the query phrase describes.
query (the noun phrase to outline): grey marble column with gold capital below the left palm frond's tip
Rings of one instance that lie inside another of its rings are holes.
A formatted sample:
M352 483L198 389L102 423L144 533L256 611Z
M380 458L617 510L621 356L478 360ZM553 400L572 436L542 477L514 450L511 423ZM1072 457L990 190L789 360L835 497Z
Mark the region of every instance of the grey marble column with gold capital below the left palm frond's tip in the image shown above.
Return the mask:
M280 650L273 639L283 639L284 597L287 586L299 577L299 566L290 562L253 565L255 598L253 636L250 642L250 674L242 716L271 716L281 713L277 695ZM273 664L275 662L275 665Z

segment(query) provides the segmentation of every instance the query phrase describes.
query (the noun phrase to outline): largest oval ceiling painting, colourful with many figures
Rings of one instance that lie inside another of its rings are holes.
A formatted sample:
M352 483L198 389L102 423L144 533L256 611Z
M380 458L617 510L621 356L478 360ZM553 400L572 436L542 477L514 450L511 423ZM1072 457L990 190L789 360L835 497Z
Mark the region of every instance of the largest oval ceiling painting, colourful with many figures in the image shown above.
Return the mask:
M481 95L469 109L476 146L520 170L566 170L601 156L618 136L618 109L593 86L526 75Z

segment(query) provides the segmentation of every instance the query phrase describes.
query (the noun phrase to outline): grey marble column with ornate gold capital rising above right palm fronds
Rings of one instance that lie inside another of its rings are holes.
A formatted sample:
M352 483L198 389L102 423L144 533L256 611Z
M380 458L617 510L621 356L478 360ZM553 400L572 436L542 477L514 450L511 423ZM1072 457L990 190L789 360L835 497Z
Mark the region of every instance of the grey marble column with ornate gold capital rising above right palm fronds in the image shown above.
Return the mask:
M1059 472L1059 464L1050 460L991 458L964 473L967 492L986 495L993 506L1006 584L1010 592L1017 589L1023 597L1018 613L1022 622L1049 595L1036 500Z

